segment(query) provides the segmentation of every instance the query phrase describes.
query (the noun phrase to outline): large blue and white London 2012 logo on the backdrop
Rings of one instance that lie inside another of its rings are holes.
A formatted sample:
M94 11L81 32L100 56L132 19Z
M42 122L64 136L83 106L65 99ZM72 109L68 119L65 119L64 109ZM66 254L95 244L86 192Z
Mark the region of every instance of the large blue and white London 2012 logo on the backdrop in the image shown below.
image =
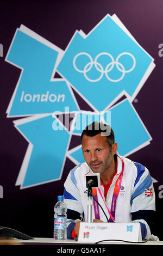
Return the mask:
M88 34L76 31L65 50L21 25L5 61L21 70L7 109L28 142L20 188L60 180L67 158L83 162L80 142L73 141L92 121L111 125L120 155L151 142L133 101L154 59L116 15L106 15Z

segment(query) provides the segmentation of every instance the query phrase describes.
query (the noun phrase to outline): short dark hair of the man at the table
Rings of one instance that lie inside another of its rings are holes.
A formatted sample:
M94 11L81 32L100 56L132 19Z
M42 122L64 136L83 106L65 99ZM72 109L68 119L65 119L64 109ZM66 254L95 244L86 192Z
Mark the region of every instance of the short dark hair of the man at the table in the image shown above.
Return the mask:
M96 136L99 133L103 133L103 136L107 138L107 142L111 148L112 144L115 143L114 131L107 124L93 122L85 127L82 132L81 141L84 135L86 136Z

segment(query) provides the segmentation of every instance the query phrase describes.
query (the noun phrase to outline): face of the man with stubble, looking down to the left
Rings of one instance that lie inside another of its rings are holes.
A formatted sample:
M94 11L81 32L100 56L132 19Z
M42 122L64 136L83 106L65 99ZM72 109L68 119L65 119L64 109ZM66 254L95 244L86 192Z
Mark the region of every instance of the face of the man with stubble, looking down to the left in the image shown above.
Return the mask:
M106 139L100 133L93 137L84 135L82 138L84 159L94 173L104 173L114 158L115 153L111 152Z

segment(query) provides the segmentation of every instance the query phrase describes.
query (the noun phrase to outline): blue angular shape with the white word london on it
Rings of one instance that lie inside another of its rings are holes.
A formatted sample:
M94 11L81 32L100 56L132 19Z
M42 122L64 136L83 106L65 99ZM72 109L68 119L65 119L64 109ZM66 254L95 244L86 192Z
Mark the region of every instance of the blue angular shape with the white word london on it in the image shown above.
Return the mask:
M78 110L64 80L51 81L58 52L17 31L7 60L21 67L20 82L10 108L12 115L31 115Z

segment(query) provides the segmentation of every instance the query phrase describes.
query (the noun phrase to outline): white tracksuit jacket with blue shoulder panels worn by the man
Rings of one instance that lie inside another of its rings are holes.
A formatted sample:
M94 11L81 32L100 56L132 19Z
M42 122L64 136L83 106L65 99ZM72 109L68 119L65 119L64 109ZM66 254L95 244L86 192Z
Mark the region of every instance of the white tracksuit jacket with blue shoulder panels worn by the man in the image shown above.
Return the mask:
M120 193L116 201L115 222L140 222L142 237L151 239L151 229L154 225L155 193L151 175L146 167L135 163L123 156L117 157L117 173L112 180L106 196L109 210L111 208L112 194L118 176L122 172L122 161L124 162L123 178ZM122 160L122 161L121 161ZM86 162L74 167L65 181L64 200L67 205L67 238L72 239L71 232L77 221L87 222L87 187L85 175L90 168ZM90 174L93 173L90 170ZM100 186L103 198L104 187ZM151 188L151 190L150 190ZM151 193L152 191L152 193ZM97 192L98 202L101 204L108 219L108 210ZM84 215L83 215L84 214ZM107 222L103 211L99 207L100 218ZM92 206L92 220L95 218ZM150 228L149 228L150 227Z

